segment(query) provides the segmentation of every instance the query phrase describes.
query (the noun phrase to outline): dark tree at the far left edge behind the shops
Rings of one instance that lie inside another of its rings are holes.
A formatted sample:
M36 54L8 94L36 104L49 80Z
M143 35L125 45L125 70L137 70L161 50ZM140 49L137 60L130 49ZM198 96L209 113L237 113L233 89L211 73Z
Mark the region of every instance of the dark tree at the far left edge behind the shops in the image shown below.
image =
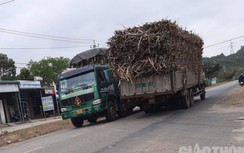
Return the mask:
M16 67L13 59L7 55L0 53L0 79L13 80L16 75Z

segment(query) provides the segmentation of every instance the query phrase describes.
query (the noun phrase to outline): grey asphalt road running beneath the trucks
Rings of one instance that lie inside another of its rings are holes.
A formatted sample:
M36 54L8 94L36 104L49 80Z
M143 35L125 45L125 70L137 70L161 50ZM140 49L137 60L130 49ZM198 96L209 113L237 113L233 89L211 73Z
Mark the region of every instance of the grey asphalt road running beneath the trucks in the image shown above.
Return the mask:
M243 111L221 111L230 82L207 90L207 98L187 110L137 112L114 122L101 120L0 148L1 153L175 153L181 146L243 145Z

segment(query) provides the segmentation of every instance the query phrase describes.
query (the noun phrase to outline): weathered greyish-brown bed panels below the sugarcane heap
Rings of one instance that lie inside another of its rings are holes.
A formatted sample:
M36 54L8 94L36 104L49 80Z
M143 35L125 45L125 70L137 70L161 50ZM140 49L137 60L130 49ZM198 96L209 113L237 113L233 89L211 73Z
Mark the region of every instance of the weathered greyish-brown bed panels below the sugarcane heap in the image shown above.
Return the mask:
M166 75L156 75L135 80L134 83L122 81L120 84L121 98L146 97L159 94L173 94L184 85L188 88L198 84L200 73L188 71L175 72Z

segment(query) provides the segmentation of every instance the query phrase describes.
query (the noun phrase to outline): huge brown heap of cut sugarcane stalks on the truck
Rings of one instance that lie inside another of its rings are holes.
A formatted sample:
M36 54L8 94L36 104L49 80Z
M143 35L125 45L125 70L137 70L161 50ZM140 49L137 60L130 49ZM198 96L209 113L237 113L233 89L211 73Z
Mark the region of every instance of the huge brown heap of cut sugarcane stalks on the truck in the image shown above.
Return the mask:
M108 45L110 66L120 81L202 69L203 40L171 20L115 31Z

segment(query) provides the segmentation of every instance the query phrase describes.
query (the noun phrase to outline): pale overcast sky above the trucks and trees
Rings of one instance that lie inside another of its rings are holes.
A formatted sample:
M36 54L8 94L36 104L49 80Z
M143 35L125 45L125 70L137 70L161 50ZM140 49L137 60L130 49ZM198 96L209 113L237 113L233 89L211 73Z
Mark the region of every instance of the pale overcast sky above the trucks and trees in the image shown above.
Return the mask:
M72 58L93 40L106 47L115 30L170 19L202 37L204 57L229 55L244 45L243 6L243 0L0 0L0 53L20 69L30 60Z

